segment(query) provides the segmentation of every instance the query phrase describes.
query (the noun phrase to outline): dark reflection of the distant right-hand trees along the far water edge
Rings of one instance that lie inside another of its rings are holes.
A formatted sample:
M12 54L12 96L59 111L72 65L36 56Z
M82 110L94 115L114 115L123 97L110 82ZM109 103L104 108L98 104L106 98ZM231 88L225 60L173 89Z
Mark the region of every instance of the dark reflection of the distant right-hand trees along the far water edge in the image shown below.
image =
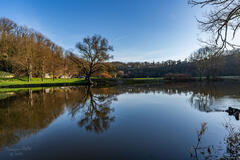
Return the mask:
M125 93L161 93L167 95L186 95L190 97L190 105L201 112L229 113L229 107L238 110L240 109L239 82L136 85L134 87L119 87L117 88L117 91L122 91ZM230 103L222 104L220 101L224 98L228 99ZM229 115L231 115L231 113L229 113ZM235 117L237 119L237 116Z

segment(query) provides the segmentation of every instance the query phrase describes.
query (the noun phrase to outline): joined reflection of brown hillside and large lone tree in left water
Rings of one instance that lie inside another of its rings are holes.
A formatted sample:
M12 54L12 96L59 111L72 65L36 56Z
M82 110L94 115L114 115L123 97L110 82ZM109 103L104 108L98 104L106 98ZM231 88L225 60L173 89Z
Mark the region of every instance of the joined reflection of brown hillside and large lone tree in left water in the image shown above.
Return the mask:
M48 127L56 118L70 110L81 114L79 126L101 133L114 121L110 89L91 87L28 89L0 101L0 148L18 143Z

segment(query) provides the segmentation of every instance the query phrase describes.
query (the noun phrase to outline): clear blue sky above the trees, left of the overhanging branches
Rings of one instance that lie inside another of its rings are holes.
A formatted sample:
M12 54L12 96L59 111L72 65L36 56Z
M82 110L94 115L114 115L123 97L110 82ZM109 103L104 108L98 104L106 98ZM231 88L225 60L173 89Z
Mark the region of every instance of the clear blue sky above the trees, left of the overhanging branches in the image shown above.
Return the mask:
M100 34L114 61L187 58L202 33L187 0L0 0L0 16L43 33L65 49Z

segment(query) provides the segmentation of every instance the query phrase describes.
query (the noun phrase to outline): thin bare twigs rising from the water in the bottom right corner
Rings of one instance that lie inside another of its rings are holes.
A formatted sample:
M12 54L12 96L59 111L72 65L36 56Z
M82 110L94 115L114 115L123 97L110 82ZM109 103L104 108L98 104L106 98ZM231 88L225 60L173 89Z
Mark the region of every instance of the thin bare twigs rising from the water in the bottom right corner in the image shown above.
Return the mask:
M192 159L220 159L220 160L238 160L240 158L240 129L234 126L230 121L225 122L224 128L226 135L223 139L223 146L203 145L201 144L203 135L206 132L207 124L202 123L201 130L197 131L197 143L190 148L190 157Z

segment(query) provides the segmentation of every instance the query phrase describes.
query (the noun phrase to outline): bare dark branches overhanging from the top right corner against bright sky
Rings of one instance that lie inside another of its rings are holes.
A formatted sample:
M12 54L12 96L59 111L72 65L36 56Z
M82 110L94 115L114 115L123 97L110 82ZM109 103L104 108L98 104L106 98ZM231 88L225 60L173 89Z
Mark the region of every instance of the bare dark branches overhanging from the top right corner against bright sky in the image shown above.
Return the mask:
M217 51L227 47L240 47L239 44L232 42L240 27L239 0L189 0L188 3L192 6L210 8L205 19L198 20L203 31L213 34L213 41L206 43L217 47Z

